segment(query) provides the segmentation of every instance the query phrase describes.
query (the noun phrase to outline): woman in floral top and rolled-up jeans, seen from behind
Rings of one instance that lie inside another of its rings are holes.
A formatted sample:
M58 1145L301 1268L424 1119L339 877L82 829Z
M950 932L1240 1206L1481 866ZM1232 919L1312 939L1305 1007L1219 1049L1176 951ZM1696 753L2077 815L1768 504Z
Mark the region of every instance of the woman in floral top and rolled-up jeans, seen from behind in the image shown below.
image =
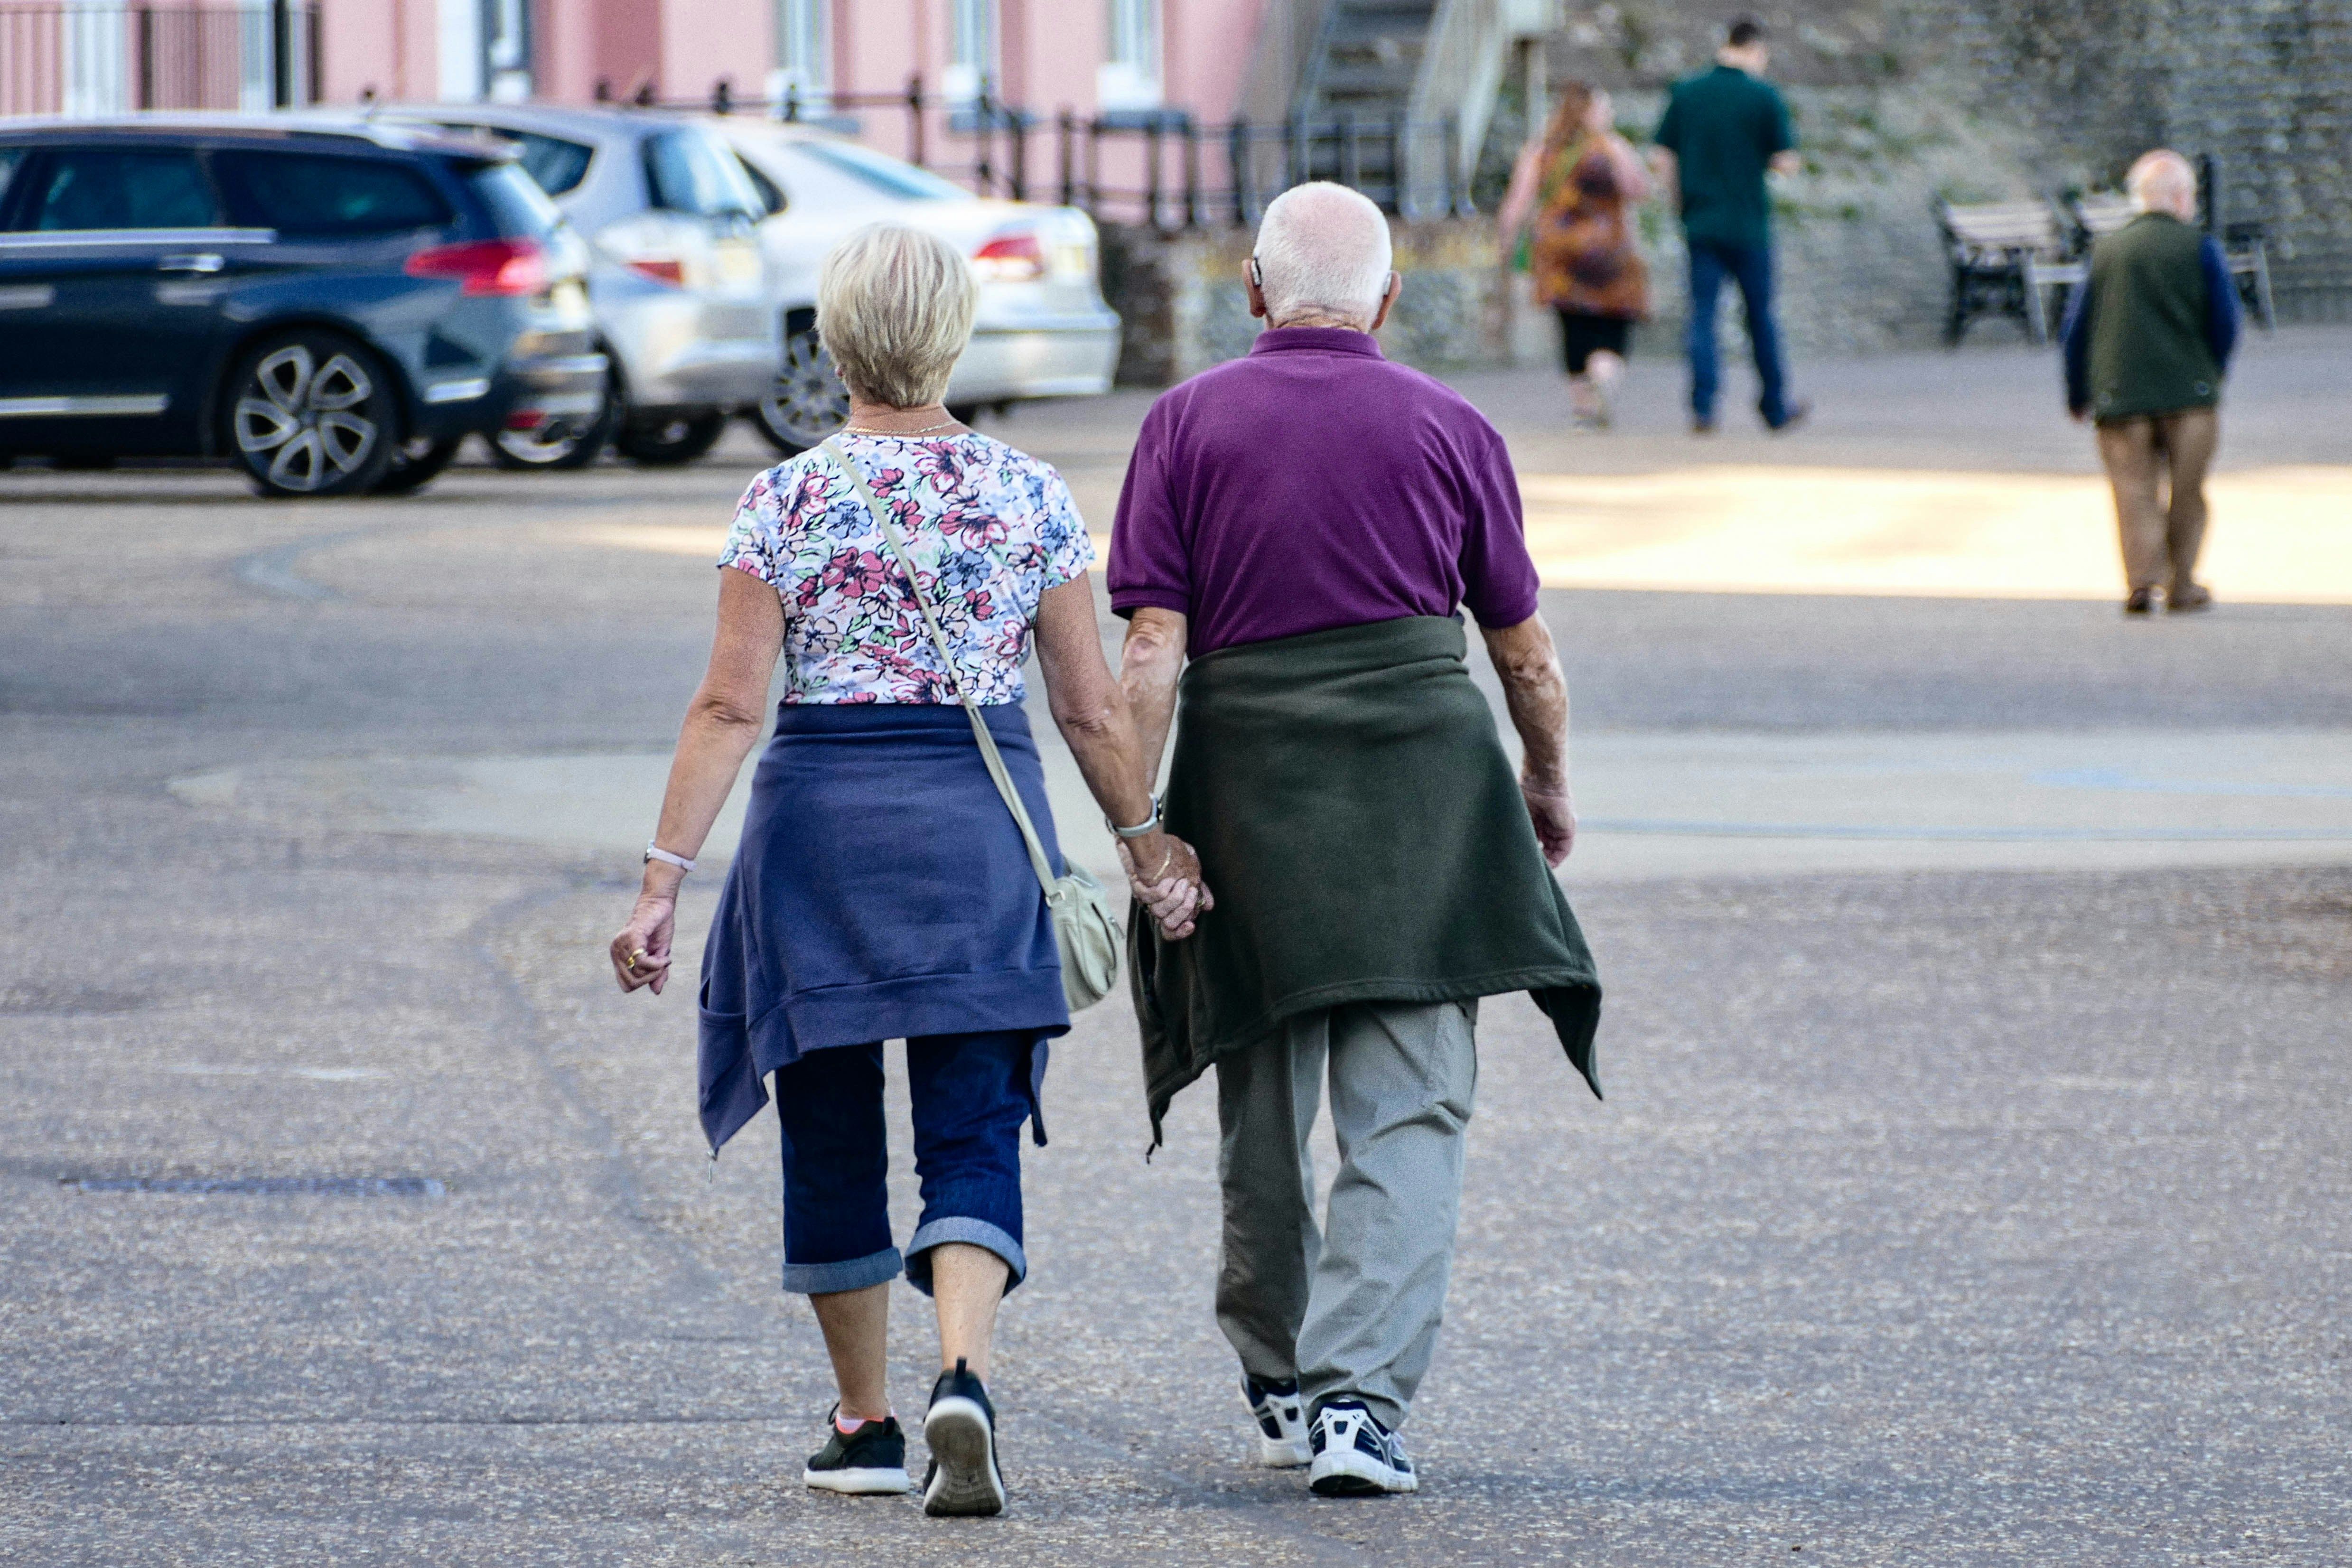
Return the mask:
M1136 898L1171 938L1209 907L1190 846L1160 832L1103 663L1094 550L1070 489L938 402L974 301L964 259L913 228L866 228L826 259L816 322L849 386L849 425L743 496L720 557L710 670L677 738L644 891L612 940L621 990L661 992L677 884L760 738L781 654L776 736L703 950L703 1131L715 1154L774 1074L783 1288L809 1295L840 1382L809 1486L908 1490L884 1389L889 1281L903 1269L934 1298L931 1514L1004 1507L983 1378L997 1300L1028 1274L1021 1124L1044 1143L1047 1039L1070 1027L1028 842L960 703L985 715L1058 858L1021 708L1035 639L1054 724L1120 835ZM903 1258L884 1192L887 1039L906 1039L922 1182Z

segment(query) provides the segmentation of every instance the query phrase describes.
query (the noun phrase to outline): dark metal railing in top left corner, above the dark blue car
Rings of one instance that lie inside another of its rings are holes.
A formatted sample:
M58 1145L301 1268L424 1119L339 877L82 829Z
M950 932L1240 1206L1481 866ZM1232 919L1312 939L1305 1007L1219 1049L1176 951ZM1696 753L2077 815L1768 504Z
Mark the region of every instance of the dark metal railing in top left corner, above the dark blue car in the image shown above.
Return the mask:
M0 115L289 108L318 99L320 0L0 0Z

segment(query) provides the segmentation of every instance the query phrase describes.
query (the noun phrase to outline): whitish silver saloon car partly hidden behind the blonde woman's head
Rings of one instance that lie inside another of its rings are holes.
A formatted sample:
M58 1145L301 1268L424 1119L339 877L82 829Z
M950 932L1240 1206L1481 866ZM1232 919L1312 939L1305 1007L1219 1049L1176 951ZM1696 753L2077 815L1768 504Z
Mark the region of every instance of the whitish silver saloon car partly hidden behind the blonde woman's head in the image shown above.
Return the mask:
M1108 393L1120 317L1103 303L1094 221L1075 207L971 195L856 141L779 120L710 118L769 207L760 223L783 367L753 421L786 456L840 430L849 395L816 341L816 268L854 228L910 223L971 256L981 310L948 404Z

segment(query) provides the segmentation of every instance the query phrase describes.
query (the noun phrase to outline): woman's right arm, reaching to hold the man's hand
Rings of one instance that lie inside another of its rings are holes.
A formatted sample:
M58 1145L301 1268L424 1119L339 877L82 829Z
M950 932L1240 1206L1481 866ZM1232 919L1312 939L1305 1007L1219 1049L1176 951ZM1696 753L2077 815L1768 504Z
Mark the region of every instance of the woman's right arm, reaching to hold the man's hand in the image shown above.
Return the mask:
M1127 693L1103 663L1103 637L1094 623L1094 583L1075 578L1047 588L1037 604L1037 668L1044 672L1047 705L1061 738L1077 757L1077 771L1112 823L1141 823L1152 813L1150 773ZM1136 898L1171 938L1192 936L1195 914L1216 907L1200 882L1200 858L1171 832L1120 839L1120 858Z

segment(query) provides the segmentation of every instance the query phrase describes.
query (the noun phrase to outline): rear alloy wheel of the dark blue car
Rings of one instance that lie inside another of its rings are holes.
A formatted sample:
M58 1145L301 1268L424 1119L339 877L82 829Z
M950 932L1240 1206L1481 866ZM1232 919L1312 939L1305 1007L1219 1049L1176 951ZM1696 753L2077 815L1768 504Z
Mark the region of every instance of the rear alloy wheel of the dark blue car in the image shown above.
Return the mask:
M228 447L266 496L350 496L393 465L390 376L339 331L270 334L228 386Z

